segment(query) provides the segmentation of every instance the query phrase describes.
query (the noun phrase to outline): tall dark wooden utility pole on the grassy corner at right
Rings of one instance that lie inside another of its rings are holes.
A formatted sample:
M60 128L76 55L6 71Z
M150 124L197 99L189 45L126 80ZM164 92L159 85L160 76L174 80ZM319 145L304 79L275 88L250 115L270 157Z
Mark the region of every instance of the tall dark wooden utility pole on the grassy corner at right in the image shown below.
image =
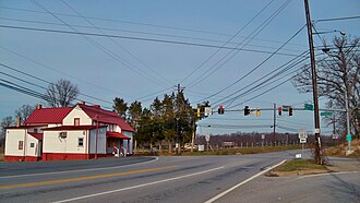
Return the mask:
M312 93L314 103L314 121L315 121L315 163L323 164L321 157L321 141L320 141L320 118L319 118L319 99L317 99L317 82L316 82L316 68L315 68L315 55L314 45L312 40L312 23L310 19L309 2L304 0L307 25L308 25L308 39L310 49L310 60L311 60L311 73L312 73Z

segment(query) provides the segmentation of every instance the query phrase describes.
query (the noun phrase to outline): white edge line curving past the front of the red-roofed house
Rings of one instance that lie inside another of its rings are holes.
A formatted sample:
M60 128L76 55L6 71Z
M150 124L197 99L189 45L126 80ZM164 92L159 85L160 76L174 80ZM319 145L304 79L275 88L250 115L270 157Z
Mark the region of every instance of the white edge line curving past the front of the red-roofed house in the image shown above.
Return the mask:
M68 172L81 172L81 171L93 171L93 170L106 170L106 169L122 168L122 167L127 167L127 166L136 166L136 165L142 165L142 164L148 164L148 163L157 162L158 159L159 159L158 157L155 157L155 159L148 160L148 162L135 163L135 164L129 164L129 165L121 165L121 166L112 166L112 167L103 167L103 168L88 168L88 169L56 171L56 172L38 172L38 174L29 174L29 175L3 176L3 177L0 177L0 179L22 178L22 177L44 176L44 175L57 175L57 174L68 174Z

